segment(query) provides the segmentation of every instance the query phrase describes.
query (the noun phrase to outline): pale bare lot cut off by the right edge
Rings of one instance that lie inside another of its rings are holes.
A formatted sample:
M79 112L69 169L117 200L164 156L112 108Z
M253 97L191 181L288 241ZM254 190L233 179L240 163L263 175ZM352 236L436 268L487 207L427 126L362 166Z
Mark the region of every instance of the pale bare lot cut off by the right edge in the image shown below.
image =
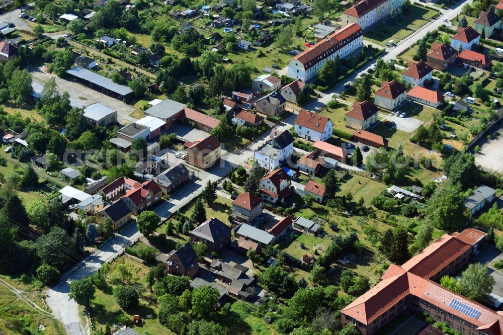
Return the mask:
M475 153L475 163L486 171L503 173L503 129L491 134L491 139L477 143L480 150Z

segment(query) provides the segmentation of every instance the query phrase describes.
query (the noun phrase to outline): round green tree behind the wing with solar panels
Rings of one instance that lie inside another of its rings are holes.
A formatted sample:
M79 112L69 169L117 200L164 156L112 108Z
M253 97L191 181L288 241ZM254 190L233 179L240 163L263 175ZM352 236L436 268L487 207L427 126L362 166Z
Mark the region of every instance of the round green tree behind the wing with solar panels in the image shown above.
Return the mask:
M487 271L487 266L480 263L470 264L461 274L461 291L472 300L487 301L496 281Z

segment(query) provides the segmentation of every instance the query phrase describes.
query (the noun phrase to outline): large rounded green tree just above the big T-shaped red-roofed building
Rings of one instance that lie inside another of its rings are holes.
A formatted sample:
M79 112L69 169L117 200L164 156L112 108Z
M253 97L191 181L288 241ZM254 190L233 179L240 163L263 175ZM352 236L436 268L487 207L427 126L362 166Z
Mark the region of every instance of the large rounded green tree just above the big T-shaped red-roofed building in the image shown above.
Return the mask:
M464 197L458 186L444 185L427 202L427 214L438 229L454 230L465 223Z

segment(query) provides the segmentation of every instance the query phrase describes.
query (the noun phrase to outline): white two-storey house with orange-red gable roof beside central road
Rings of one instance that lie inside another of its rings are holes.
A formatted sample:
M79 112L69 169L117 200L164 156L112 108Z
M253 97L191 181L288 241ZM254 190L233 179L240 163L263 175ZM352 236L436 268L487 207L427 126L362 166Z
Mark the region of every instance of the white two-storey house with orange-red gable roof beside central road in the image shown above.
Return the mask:
M326 116L301 109L295 119L295 132L311 142L326 141L332 137L333 123Z

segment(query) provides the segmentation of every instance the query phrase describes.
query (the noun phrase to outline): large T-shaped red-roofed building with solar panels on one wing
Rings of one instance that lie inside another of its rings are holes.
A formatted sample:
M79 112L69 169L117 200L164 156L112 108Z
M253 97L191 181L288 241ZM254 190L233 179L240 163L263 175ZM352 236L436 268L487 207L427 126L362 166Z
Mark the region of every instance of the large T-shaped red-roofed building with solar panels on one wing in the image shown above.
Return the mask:
M445 234L403 265L390 265L376 286L341 310L342 324L372 335L408 309L466 335L502 334L503 315L437 283L466 265L486 235L473 228Z

